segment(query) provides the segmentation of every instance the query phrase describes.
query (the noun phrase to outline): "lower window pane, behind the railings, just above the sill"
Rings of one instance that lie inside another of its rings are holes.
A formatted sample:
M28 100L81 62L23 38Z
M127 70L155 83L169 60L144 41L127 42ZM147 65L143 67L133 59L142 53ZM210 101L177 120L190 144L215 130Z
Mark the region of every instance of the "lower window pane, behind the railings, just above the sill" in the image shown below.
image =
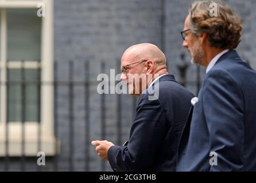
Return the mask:
M9 90L8 90L8 110L9 121L21 121L22 109L25 109L25 121L38 121L38 97L40 86L38 86L37 69L25 69L25 104L22 106L22 72L21 69L9 69Z

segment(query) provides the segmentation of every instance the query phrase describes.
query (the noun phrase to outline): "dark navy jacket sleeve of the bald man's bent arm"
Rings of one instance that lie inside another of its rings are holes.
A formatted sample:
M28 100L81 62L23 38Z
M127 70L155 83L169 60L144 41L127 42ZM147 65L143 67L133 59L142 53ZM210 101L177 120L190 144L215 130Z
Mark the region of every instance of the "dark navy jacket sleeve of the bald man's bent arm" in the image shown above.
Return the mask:
M148 94L142 94L131 125L129 144L112 146L108 150L111 167L119 171L148 169L157 156L165 133L165 116L160 101L150 101Z

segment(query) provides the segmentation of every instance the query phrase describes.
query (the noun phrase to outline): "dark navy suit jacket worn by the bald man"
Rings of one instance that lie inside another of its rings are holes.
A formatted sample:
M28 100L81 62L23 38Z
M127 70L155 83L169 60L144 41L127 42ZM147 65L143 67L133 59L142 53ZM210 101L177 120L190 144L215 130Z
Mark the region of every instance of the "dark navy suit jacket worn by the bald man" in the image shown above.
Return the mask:
M114 170L175 170L180 135L193 94L170 74L162 76L152 87L157 85L157 100L149 100L149 92L139 97L129 144L108 150L108 161Z

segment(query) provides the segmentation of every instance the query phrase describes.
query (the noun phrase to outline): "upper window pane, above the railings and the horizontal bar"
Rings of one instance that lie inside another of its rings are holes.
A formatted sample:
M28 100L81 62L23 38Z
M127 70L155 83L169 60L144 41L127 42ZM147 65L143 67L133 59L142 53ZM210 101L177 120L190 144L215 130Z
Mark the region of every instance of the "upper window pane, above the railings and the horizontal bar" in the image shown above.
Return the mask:
M7 60L39 61L40 42L37 9L7 9Z

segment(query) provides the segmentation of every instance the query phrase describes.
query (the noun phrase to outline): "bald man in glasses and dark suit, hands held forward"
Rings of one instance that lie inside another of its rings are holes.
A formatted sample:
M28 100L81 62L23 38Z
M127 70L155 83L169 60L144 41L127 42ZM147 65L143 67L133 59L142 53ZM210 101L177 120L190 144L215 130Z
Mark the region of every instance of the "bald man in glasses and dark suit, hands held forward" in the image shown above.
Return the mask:
M174 171L193 94L168 74L164 53L150 43L129 47L121 71L129 94L139 97L129 143L115 146L104 140L92 145L115 171ZM157 94L150 98L152 91Z

